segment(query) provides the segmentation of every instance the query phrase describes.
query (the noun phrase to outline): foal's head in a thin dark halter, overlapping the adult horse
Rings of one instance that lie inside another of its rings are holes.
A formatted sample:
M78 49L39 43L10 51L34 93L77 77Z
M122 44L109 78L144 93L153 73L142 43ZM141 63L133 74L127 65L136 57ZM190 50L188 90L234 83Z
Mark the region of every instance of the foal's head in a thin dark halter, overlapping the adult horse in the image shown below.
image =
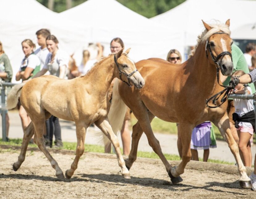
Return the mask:
M134 61L128 57L130 48L123 53L123 49L114 55L115 62L115 76L126 82L127 85L134 85L136 88L141 89L145 81L139 71L136 69Z

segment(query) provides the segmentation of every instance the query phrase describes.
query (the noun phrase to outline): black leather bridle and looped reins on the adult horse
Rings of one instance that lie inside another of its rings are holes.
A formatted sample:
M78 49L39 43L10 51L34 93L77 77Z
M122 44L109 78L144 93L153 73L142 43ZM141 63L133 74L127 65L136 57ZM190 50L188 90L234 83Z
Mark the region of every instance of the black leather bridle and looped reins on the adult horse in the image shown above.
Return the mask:
M227 33L224 33L224 32L215 32L213 35L215 34L227 34ZM223 57L225 55L229 55L231 57L231 60L233 61L232 59L232 55L230 52L228 51L224 51L224 52L221 52L217 57L213 56L212 54L212 51L211 51L211 47L210 47L210 44L209 44L209 39L207 40L206 42L206 46L205 46L205 52L206 52L206 57L208 59L208 53L207 53L207 49L209 49L209 52L210 52L210 55L211 55L211 58L212 60L214 61L215 63L215 66L217 68L217 82L218 84L220 85L219 83L219 71L220 71L220 64L219 62L221 62L221 60L223 59ZM218 67L217 67L218 66ZM206 106L209 107L209 108L217 108L219 106L221 106L224 102L227 101L230 93L231 93L231 90L232 90L232 85L228 85L228 86L224 86L224 85L220 85L222 87L224 87L225 89L220 91L219 93L213 95L212 97L210 97L208 100L206 99ZM220 105L216 105L216 101L220 98L220 96L223 95L223 97L221 98L220 102L221 104ZM208 103L212 101L212 103L215 105L215 106L209 106Z

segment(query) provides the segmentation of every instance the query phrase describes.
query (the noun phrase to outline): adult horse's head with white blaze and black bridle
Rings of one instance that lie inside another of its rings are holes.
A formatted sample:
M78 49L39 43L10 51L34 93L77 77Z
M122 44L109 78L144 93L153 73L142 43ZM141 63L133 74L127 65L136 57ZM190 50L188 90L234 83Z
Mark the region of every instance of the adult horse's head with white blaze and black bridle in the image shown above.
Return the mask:
M202 20L203 21L203 20ZM209 34L206 41L206 55L210 62L214 62L221 73L229 76L233 71L233 62L231 55L231 45L233 40L230 38L229 19L223 24L223 30L215 31L213 27L203 21L203 25ZM227 30L227 31L225 31Z

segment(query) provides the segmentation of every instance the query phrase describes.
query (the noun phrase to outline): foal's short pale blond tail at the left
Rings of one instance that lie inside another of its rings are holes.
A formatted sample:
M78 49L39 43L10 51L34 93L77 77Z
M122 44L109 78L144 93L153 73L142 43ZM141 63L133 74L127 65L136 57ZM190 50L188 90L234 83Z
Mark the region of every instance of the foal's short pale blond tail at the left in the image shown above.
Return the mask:
M18 104L21 89L25 83L17 84L12 87L11 91L7 96L7 109L13 109Z

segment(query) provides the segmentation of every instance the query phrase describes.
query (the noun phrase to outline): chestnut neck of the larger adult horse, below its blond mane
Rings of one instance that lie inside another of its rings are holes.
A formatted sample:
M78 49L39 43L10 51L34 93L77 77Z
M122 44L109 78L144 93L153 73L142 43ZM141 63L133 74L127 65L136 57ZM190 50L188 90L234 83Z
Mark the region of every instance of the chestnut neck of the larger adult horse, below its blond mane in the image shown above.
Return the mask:
M191 75L196 78L196 84L199 88L204 89L205 93L213 93L220 89L217 82L217 69L211 61L211 56L206 56L204 44L198 44L196 52L192 57L193 66L191 67ZM197 87L197 88L198 88Z

